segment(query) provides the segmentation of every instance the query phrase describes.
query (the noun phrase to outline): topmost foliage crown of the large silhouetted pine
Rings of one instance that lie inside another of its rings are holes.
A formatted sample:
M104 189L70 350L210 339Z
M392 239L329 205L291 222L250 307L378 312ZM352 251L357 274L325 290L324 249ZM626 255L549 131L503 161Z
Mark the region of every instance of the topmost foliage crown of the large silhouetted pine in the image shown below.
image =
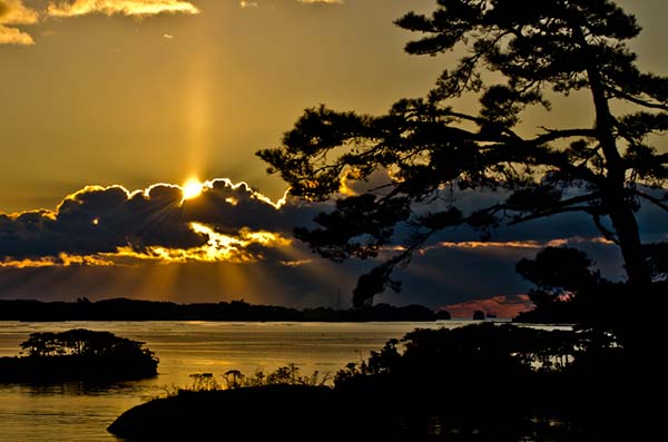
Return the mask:
M428 35L406 45L415 55L435 55L465 46L463 57L440 78L439 98L484 89L481 116L517 122L523 105L541 102L546 86L560 92L602 80L620 98L646 95L647 104L666 110L666 79L640 72L625 41L640 32L636 18L608 0L439 1L432 17L409 13L404 29ZM480 68L499 71L503 88L483 87ZM642 80L642 81L638 81ZM645 80L648 80L647 82ZM636 97L640 99L641 97ZM651 100L651 101L650 101Z

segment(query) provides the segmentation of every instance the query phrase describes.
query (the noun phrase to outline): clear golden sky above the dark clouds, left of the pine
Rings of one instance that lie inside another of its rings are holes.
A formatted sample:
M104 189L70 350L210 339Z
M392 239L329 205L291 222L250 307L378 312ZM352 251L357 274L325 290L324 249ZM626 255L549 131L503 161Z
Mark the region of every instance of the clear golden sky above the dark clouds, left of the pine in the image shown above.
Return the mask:
M442 66L404 55L392 24L431 0L0 3L4 212L53 208L82 185L190 175L277 198L285 186L254 153L304 108L382 112L429 90Z

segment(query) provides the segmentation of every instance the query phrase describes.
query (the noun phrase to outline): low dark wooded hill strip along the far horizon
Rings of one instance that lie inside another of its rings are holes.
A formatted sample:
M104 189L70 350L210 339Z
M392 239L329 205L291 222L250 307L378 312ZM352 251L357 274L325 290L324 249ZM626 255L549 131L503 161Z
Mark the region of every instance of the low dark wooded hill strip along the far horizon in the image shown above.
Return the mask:
M364 322L364 321L436 321L446 320L446 312L436 314L422 305L402 307L377 304L369 311L327 307L296 310L276 305L253 305L244 301L208 304L176 304L164 301L112 298L91 302L2 301L0 321L296 321L296 322Z

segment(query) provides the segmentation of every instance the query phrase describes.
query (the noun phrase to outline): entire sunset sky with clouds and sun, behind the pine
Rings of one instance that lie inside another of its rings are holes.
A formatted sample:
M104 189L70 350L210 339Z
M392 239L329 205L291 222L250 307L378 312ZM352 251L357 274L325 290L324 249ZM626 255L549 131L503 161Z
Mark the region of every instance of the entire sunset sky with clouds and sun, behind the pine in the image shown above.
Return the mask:
M619 3L644 27L640 67L667 75L668 4ZM292 227L327 205L286 195L254 154L307 107L381 114L424 96L456 55L405 55L411 35L392 22L434 4L0 0L0 297L334 306L341 293L346 306L373 263L328 263L297 243ZM546 114L523 120L532 132ZM556 100L550 126L582 120L587 96ZM665 215L639 217L646 238L664 235ZM399 275L401 294L377 301L522 294L514 263L549 244L622 273L588 219L561 216L488 244L444 233Z

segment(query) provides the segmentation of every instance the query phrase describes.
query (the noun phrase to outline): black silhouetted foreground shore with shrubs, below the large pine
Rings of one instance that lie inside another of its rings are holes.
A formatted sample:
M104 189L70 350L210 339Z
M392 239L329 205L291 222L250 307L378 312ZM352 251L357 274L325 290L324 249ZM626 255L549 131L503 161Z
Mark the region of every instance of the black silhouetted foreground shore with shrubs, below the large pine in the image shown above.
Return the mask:
M605 336L481 324L415 331L333 387L295 375L210 383L134 407L109 426L132 441L638 440L640 392Z

